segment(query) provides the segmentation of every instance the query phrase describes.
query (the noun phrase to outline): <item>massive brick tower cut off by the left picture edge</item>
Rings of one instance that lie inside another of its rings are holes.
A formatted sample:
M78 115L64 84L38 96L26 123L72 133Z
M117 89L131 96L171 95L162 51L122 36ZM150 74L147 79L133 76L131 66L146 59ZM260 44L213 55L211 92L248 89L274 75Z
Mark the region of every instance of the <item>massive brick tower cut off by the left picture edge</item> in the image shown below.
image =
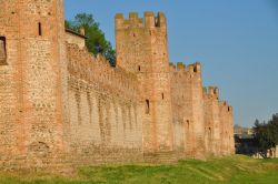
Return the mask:
M56 157L67 101L63 0L0 4L0 154Z

